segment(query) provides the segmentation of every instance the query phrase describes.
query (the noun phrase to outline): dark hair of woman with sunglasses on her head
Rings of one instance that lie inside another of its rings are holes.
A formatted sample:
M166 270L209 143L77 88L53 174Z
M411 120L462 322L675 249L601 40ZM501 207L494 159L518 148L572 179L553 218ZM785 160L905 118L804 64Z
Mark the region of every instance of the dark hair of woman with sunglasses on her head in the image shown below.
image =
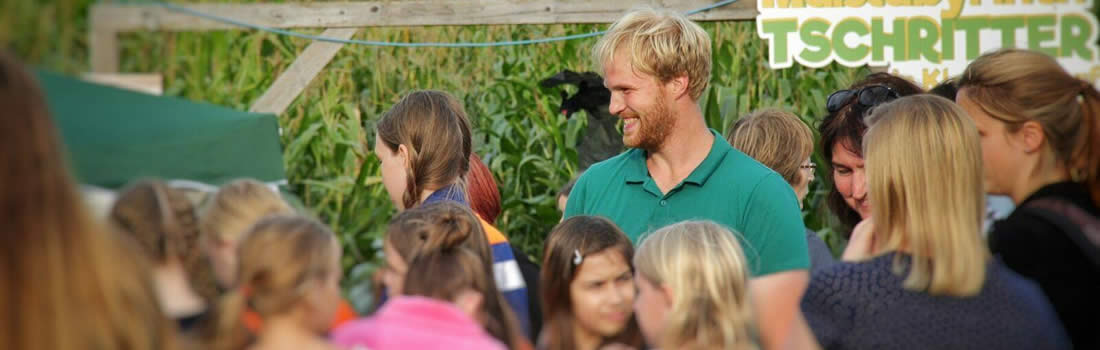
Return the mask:
M898 92L899 97L924 92L916 84L889 73L868 75L862 80L853 84L848 89L856 90L872 85L889 87L894 92ZM839 144L849 152L860 157L864 156L864 133L867 132L867 124L864 123L864 117L868 109L867 106L859 103L859 97L854 97L836 112L826 114L818 127L822 135L822 153L825 155L825 163L828 164L826 166L828 171L825 173L828 174L829 182L834 183L832 188L829 188L826 203L846 229L856 227L856 223L859 223L862 218L859 217L858 211L848 206L848 203L844 201L844 195L836 189L832 165L833 146ZM846 236L851 233L848 230L845 230L845 232Z

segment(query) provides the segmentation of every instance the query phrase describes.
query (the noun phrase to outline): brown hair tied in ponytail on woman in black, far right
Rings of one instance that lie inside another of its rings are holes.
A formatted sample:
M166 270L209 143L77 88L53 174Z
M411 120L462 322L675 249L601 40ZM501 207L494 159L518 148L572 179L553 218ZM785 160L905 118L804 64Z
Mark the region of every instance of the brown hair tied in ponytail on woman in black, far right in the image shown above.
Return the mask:
M1009 132L1038 122L1070 178L1084 183L1100 204L1100 91L1092 84L1069 75L1050 56L1005 48L971 62L958 86Z

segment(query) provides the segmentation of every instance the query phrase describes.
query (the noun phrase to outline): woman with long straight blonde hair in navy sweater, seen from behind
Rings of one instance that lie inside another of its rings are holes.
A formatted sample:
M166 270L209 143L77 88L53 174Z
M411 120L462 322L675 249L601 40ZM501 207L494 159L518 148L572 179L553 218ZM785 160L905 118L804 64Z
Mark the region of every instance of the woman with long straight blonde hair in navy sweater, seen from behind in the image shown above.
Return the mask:
M875 108L864 138L873 221L859 262L814 273L802 309L827 349L1066 349L1050 305L990 259L978 131L952 101ZM849 248L850 250L850 248Z

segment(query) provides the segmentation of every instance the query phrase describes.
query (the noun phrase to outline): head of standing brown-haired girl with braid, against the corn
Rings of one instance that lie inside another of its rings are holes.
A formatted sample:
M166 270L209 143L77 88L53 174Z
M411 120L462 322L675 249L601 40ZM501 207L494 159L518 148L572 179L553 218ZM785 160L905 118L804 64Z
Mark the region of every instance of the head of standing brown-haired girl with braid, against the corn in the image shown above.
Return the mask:
M470 169L470 120L447 92L409 94L382 116L375 129L382 183L399 209L415 207L426 192L460 183Z

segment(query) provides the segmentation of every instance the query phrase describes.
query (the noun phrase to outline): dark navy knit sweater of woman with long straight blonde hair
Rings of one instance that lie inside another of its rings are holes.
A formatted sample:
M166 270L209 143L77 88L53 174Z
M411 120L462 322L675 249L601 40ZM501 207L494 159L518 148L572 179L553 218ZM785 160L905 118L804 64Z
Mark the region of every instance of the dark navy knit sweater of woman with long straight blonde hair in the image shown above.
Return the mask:
M970 297L905 289L888 253L813 270L802 310L825 349L1068 349L1035 283L990 261ZM904 265L908 255L899 256Z

